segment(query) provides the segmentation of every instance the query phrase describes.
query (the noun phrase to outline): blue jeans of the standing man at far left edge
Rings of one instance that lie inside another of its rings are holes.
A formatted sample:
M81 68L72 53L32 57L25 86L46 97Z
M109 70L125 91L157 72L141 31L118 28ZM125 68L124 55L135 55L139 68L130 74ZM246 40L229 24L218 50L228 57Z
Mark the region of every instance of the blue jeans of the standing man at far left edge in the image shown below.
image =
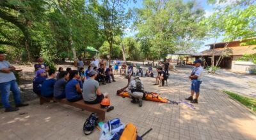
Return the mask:
M0 93L1 93L1 101L4 105L4 108L10 108L10 90L13 92L13 98L15 104L20 104L20 89L16 82L16 80L0 83Z

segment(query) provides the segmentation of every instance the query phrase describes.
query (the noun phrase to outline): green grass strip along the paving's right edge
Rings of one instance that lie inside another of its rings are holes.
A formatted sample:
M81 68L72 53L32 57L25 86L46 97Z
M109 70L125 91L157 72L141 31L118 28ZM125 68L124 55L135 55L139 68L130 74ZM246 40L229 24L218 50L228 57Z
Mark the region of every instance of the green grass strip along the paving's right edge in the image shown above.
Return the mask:
M227 91L227 90L223 90L223 92L225 92L225 94L228 94L233 99L236 99L236 101L241 102L241 104L243 104L247 108L256 112L256 98L246 97L246 96L239 95L239 94L236 94L234 92Z

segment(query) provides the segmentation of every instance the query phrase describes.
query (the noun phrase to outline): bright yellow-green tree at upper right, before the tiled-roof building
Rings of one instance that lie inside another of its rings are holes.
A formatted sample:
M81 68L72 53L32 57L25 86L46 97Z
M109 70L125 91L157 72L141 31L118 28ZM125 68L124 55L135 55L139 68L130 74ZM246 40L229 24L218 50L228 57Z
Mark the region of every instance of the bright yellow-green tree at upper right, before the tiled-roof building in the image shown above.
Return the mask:
M209 1L220 4L227 1ZM232 52L227 48L230 41L239 39L243 45L256 43L256 3L255 1L237 1L236 3L216 8L216 11L205 19L204 24L208 28L208 36L214 38L212 52L212 67L218 67L224 57L229 56ZM219 59L214 64L214 48L216 39L223 36L223 41L227 41L225 49L221 52ZM253 56L253 55L252 55Z

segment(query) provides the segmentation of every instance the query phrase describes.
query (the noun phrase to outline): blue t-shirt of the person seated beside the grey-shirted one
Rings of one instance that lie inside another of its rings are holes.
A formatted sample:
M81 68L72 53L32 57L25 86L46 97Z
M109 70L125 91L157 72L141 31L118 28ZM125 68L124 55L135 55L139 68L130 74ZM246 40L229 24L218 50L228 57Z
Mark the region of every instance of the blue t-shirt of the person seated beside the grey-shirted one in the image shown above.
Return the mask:
M76 90L77 83L79 83L79 81L74 80L74 79L68 81L66 88L65 88L66 98L68 100L74 99L77 97L77 95L78 95L77 90Z

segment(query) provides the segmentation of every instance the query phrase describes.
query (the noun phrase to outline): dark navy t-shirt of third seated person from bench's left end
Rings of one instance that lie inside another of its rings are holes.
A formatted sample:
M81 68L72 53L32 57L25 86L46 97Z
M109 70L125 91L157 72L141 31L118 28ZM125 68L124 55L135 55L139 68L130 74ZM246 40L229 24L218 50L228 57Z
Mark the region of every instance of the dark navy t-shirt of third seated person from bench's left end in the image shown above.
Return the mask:
M65 93L67 81L65 78L61 78L60 80L56 81L54 84L53 95L54 97L58 97L61 94Z

